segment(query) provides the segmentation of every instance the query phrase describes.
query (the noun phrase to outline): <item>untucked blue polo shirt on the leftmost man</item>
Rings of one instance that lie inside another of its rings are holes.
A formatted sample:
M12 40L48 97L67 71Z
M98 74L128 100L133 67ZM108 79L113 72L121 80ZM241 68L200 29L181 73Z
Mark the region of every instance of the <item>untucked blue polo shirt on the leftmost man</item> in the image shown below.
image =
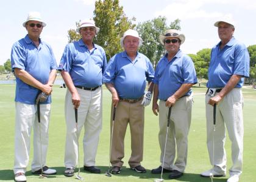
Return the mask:
M25 38L13 44L11 53L12 70L13 72L15 68L26 70L40 83L47 84L49 74L52 69L57 69L57 64L51 46L41 41L41 39L39 41L40 44L37 47L29 36L26 35ZM40 92L41 90L29 86L16 77L16 102L35 104L35 99ZM49 103L51 103L51 95L41 104Z

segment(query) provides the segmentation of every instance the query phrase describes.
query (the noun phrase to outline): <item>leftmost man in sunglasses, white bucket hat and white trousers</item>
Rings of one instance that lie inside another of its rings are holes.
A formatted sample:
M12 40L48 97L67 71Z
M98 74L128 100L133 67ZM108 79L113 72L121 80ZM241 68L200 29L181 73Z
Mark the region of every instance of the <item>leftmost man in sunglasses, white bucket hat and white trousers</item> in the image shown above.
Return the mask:
M34 160L32 173L55 174L46 163L48 149L48 127L51 113L52 84L57 64L51 46L40 39L46 24L40 13L30 12L23 23L27 35L12 47L12 70L16 76L15 95L15 181L26 181L26 167L29 163L30 134L34 128ZM44 93L44 99L38 98ZM36 99L43 101L38 110ZM40 112L40 123L38 123ZM41 133L41 134L40 134ZM41 136L40 136L41 135ZM41 139L40 139L41 138Z

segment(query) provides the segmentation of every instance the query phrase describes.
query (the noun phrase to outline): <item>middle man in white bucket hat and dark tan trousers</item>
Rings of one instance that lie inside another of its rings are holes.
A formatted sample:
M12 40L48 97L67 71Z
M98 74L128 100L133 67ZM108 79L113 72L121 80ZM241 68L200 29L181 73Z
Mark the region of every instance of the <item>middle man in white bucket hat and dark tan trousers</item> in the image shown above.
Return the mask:
M127 30L121 38L124 52L117 53L108 62L103 82L112 93L112 113L116 107L110 162L112 174L119 174L123 166L124 136L130 126L132 154L128 161L131 169L144 173L143 160L144 106L152 97L154 69L149 59L139 53L142 39L136 30ZM144 95L148 81L149 89ZM111 118L112 120L112 118Z

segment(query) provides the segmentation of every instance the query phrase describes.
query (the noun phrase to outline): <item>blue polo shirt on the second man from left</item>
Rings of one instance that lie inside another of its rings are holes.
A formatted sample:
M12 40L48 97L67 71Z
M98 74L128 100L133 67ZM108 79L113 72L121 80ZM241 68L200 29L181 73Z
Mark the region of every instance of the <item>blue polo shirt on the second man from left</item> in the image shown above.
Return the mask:
M102 85L102 74L107 67L104 49L93 44L89 50L82 39L66 45L58 70L71 76L74 86L93 88Z

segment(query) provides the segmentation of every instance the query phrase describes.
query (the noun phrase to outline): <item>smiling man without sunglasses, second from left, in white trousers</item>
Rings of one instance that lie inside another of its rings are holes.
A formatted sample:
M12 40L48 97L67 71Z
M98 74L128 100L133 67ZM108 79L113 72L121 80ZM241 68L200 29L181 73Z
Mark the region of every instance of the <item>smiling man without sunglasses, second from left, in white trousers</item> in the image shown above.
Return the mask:
M60 60L59 70L68 89L65 98L66 177L74 175L77 166L77 136L75 112L78 112L78 133L84 126L84 170L99 174L95 166L99 133L102 129L102 73L107 66L104 49L93 43L99 32L94 21L85 19L76 29L82 36L79 41L66 45Z

